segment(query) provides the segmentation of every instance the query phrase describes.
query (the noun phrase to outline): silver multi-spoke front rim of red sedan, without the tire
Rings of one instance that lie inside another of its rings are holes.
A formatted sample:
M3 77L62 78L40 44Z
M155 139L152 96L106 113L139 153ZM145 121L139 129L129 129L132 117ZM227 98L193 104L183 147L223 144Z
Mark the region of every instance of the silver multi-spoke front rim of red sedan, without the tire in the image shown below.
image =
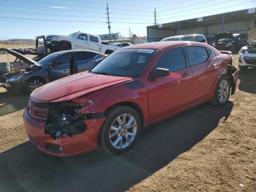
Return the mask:
M112 146L117 149L126 148L132 143L137 132L137 122L131 114L122 114L114 120L109 139Z

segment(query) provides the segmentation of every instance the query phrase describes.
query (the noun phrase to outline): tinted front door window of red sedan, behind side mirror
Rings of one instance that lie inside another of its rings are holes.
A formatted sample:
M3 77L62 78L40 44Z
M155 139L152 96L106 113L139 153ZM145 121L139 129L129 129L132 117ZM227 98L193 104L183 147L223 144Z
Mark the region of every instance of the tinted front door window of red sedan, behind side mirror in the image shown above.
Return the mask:
M182 48L166 51L157 61L154 70L156 68L166 68L170 72L176 72L186 68L186 60Z

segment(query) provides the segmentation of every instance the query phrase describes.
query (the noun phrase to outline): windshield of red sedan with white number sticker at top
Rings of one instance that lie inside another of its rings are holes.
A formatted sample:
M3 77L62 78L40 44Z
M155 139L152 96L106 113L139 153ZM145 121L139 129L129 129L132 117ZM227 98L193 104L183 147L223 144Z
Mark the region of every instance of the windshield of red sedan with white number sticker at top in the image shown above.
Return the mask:
M153 49L122 49L110 54L92 69L92 73L138 77L155 54Z

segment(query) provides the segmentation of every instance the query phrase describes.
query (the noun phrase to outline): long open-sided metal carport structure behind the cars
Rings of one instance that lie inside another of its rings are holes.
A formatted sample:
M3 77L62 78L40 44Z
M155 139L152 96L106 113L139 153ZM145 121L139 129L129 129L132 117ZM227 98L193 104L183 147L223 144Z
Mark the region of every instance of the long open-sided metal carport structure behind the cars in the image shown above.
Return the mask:
M161 26L162 25L162 26ZM232 32L247 34L248 30L256 26L256 13L248 14L248 9L226 12L222 14L169 22L147 26L148 42L160 41L162 38L177 34L203 34L214 36L218 32Z

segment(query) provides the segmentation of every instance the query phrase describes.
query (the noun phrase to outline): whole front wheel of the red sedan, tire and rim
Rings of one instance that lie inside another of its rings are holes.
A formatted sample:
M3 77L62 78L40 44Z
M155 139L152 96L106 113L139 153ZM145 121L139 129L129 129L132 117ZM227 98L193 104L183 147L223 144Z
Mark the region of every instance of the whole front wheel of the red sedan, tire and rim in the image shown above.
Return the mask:
M138 112L128 106L116 106L109 111L100 130L102 148L112 154L124 153L132 148L141 131Z

